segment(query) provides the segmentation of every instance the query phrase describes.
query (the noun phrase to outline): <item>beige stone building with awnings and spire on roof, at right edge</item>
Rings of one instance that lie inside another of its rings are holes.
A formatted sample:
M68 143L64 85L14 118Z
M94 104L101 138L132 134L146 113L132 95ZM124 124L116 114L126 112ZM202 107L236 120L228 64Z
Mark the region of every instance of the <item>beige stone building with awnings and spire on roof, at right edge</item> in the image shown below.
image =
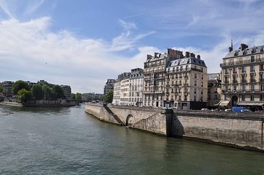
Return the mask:
M221 67L222 98L232 106L261 110L264 105L264 45L230 47Z

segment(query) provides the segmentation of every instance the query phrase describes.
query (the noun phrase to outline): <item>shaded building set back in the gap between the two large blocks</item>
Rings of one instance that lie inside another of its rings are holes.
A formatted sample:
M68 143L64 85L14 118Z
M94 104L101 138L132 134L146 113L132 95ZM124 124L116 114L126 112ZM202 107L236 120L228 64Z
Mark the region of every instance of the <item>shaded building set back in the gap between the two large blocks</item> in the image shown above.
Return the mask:
M207 77L208 108L219 108L221 101L221 73L208 73Z

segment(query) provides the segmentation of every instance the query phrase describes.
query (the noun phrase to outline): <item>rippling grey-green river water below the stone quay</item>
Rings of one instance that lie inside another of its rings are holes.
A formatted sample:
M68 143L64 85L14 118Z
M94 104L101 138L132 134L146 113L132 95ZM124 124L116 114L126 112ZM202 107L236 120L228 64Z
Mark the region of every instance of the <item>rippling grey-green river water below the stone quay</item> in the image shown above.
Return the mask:
M84 110L0 106L0 174L264 174L264 153L159 137Z

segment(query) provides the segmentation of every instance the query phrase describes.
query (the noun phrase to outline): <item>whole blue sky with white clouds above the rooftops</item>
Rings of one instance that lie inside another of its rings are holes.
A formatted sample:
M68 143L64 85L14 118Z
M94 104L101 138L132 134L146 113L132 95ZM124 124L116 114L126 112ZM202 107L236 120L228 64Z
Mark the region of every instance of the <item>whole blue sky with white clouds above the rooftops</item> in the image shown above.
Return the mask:
M146 54L192 51L219 72L230 40L264 45L264 1L0 0L0 82L102 93Z

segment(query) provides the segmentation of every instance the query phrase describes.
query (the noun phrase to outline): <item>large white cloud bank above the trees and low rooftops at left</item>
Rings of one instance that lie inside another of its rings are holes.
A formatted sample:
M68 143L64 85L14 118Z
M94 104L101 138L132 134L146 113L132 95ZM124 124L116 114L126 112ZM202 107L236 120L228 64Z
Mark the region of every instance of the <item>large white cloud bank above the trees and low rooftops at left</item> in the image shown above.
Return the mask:
M74 92L102 92L107 78L116 78L122 71L143 67L146 54L157 49L140 47L131 58L120 56L113 45L104 40L78 39L62 30L51 32L50 18L29 22L15 19L0 23L0 81L47 80L56 84L69 84ZM124 40L126 47L148 34L135 35ZM121 35L122 36L122 35ZM113 42L114 43L114 42ZM137 49L137 48L135 48Z

